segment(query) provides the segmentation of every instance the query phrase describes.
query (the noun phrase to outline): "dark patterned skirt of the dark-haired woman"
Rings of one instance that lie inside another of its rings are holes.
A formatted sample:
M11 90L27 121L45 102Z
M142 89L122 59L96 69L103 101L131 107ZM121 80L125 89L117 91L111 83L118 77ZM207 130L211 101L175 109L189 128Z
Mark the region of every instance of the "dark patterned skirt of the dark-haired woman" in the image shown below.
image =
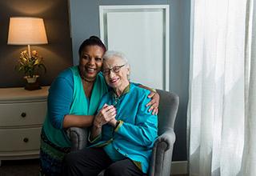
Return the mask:
M70 147L59 147L50 142L42 129L40 146L40 174L42 176L62 175L62 160L70 153Z

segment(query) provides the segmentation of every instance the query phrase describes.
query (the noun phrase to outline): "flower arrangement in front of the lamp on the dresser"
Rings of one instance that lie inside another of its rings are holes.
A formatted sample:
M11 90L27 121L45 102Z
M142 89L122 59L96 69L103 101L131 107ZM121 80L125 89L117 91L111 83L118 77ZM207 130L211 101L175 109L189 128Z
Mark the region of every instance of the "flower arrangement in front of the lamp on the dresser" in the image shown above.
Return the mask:
M23 50L18 58L17 69L23 72L26 78L33 78L40 69L43 69L46 73L46 66L42 61L42 56L40 56L36 50L32 51L31 57L26 50Z

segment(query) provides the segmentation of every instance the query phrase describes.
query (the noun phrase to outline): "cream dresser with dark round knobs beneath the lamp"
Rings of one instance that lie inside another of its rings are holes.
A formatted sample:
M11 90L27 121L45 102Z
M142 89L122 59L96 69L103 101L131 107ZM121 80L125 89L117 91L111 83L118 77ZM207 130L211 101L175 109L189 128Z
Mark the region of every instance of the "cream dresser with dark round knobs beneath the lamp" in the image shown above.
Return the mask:
M1 160L38 158L48 89L0 88L0 166Z

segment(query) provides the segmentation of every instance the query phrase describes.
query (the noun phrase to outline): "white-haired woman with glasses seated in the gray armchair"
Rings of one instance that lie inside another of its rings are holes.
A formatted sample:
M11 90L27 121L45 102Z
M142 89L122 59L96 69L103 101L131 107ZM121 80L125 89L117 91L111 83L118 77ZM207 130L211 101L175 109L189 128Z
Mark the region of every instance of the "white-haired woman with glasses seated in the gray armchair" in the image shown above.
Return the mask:
M63 174L143 175L158 135L158 117L146 107L149 90L129 81L123 54L107 51L103 75L111 90L102 97L90 130L90 148L66 155Z

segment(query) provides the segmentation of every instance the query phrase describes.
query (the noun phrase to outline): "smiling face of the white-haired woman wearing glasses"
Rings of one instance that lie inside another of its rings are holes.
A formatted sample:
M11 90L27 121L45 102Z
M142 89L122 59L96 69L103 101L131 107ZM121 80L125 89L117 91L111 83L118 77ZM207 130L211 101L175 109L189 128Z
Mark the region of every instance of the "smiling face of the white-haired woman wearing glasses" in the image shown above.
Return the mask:
M117 71L113 69L114 66L120 69ZM117 73L115 73L114 70ZM113 56L112 58L104 60L103 72L106 72L104 73L106 83L113 87L116 92L121 91L122 93L126 86L129 85L128 74L130 74L130 68L121 58Z

